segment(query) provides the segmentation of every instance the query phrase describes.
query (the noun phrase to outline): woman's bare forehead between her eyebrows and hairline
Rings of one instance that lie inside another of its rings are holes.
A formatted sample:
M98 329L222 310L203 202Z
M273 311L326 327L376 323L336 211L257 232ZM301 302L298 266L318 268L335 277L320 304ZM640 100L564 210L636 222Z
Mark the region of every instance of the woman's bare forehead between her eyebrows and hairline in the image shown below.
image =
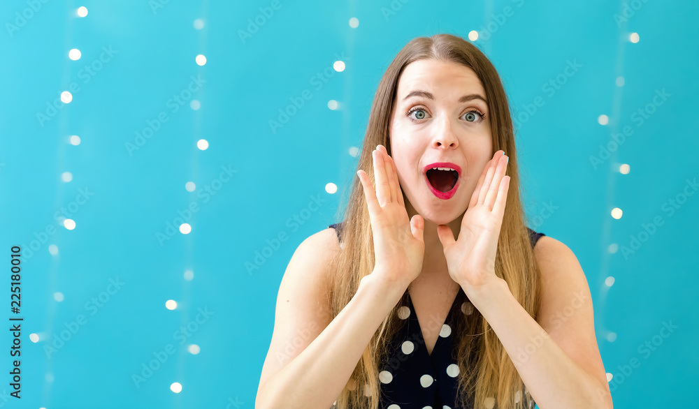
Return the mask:
M410 91L419 89L435 94L435 98L459 98L464 94L481 94L485 90L476 73L467 66L454 62L422 59L405 66L398 79L397 103Z

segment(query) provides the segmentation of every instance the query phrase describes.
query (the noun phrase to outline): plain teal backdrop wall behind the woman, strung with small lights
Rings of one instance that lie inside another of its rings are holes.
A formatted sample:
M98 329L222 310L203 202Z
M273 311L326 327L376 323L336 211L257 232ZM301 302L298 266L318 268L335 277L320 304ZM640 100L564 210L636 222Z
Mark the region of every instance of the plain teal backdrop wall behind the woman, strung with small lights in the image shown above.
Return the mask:
M477 30L474 43L519 115L529 226L569 246L589 282L614 407L698 407L699 197L688 181L699 174L699 3L278 4L0 3L0 319L24 318L22 399L9 396L13 336L4 331L0 406L253 408L282 274L303 239L338 221L356 172L349 152L361 147L384 70L416 36ZM76 17L78 6L87 17ZM259 17L260 8L273 13ZM624 12L625 21L614 17ZM256 17L264 24L241 38ZM349 27L351 17L359 27ZM628 40L633 32L638 43ZM82 52L78 61L68 58L71 48ZM206 65L195 63L197 54ZM337 59L346 64L341 73L331 70ZM568 61L581 66L560 77ZM85 70L93 64L94 75ZM323 70L332 74L325 82L316 76ZM559 89L545 86L557 77ZM73 101L50 115L47 104L71 84ZM173 96L188 87L198 89L179 105ZM669 96L654 105L663 90ZM273 129L270 121L302 95L310 99ZM641 123L644 109L653 112ZM598 124L601 114L609 124ZM606 156L600 146L612 147L625 126L624 142ZM148 127L152 136L129 148ZM71 135L81 143L70 144ZM199 139L207 150L197 149ZM628 174L619 173L622 163ZM185 190L188 181L195 191ZM337 193L326 192L329 183ZM618 220L615 207L624 212ZM75 230L59 224L62 208ZM178 217L192 232L170 236ZM280 233L286 240L265 250ZM640 246L629 253L634 240ZM17 245L22 309L12 314ZM249 272L256 252L268 256ZM115 290L110 280L123 284ZM101 294L108 299L97 307ZM166 309L168 299L178 308ZM180 331L192 322L196 330ZM670 322L677 329L663 338ZM190 344L201 352L187 352ZM173 352L136 385L134 373L164 350ZM182 392L171 392L173 382Z

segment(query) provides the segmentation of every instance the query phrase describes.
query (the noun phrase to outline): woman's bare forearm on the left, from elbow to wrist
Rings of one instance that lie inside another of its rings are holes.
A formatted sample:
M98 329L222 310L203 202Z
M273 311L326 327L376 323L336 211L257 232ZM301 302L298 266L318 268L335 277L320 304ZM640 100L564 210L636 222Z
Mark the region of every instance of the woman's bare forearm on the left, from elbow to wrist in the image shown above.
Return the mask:
M328 409L407 285L389 286L374 273L362 278L347 306L305 350L262 387L257 409ZM357 385L363 387L363 385Z

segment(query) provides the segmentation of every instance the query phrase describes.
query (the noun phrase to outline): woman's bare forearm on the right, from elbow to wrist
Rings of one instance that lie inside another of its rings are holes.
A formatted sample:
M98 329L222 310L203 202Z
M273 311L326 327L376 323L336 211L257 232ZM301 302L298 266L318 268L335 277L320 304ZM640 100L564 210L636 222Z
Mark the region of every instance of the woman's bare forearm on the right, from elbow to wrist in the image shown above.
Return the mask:
M612 408L607 389L549 337L503 279L472 294L539 408Z

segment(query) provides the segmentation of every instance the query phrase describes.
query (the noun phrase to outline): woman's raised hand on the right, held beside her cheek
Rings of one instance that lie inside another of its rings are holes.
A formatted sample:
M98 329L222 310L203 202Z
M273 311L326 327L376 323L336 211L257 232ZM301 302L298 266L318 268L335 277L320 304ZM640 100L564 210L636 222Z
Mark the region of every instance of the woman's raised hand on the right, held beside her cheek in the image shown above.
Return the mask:
M454 240L449 226L437 227L449 276L469 297L501 280L495 274L495 256L510 188L510 177L505 176L508 157L504 154L504 151L497 151L485 165L461 220L459 238Z

